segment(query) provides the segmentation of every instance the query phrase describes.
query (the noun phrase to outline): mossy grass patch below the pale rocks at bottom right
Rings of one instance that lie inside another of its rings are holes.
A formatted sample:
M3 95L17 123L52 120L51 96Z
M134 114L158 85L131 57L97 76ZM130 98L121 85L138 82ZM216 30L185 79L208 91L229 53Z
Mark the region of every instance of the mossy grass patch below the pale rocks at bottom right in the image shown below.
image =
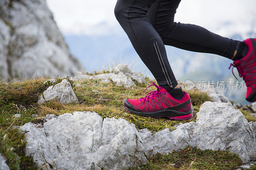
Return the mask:
M227 151L200 150L186 147L169 154L156 154L148 158L146 165L130 168L141 170L158 169L237 169L242 160L235 153Z

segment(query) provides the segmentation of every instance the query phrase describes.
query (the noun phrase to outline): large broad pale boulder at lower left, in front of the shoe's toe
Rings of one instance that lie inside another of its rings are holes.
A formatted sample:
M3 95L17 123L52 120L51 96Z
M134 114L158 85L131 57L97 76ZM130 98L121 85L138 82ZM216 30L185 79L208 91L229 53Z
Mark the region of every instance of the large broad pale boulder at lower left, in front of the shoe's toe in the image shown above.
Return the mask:
M134 124L95 112L53 117L42 128L29 122L25 152L38 166L53 169L128 169L147 163L145 148Z

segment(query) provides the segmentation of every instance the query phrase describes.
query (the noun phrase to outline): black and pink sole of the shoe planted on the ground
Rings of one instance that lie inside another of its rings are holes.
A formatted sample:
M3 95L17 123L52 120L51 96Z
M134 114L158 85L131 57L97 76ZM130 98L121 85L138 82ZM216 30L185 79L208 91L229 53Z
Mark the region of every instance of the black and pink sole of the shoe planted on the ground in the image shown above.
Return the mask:
M188 120L193 117L192 110L190 109L188 112L180 112L177 110L161 110L157 112L149 112L149 113L144 113L144 112L136 112L134 110L131 110L124 105L124 110L126 110L129 113L138 115L138 116L143 116L143 117L152 117L152 118L161 118L161 117L167 117L171 120L176 120L176 121L182 121L182 120ZM182 115L182 116L177 116L177 115Z

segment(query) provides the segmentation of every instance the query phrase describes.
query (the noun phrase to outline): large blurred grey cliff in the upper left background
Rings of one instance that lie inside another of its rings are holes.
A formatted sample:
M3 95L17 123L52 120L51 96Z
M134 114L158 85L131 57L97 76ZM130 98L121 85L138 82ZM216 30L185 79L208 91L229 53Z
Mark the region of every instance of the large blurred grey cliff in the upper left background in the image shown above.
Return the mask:
M1 0L0 77L73 76L83 70L60 33L45 0Z

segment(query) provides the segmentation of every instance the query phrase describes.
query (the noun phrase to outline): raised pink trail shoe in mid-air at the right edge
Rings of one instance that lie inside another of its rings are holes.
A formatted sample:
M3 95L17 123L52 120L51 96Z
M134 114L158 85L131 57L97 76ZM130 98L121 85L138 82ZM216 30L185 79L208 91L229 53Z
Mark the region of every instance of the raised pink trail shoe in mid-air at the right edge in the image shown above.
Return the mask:
M254 102L256 100L256 39L247 39L244 43L248 47L248 53L240 60L235 60L233 64L231 63L230 67L233 66L232 73L234 67L236 67L239 77L244 79L247 87L245 100Z

